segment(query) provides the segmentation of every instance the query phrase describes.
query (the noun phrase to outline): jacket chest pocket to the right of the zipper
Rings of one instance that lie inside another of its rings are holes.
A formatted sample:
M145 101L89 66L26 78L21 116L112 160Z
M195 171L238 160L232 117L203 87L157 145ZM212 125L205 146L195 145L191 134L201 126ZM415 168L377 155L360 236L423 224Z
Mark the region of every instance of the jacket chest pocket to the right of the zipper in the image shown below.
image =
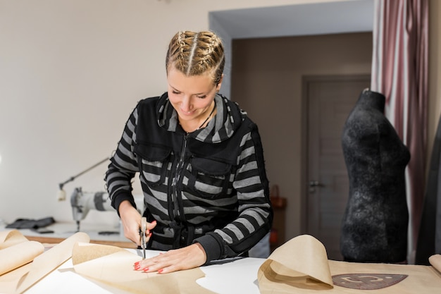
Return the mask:
M232 169L230 164L194 157L190 166L189 192L209 199L226 196Z

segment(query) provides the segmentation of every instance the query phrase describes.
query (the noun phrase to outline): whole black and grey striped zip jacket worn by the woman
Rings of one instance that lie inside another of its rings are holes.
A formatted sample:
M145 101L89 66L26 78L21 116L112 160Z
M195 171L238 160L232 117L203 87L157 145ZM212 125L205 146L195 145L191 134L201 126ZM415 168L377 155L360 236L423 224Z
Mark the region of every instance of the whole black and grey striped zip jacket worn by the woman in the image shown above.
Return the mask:
M140 101L106 173L112 205L129 200L139 172L149 247L199 242L207 262L247 252L273 220L259 131L234 102L216 95L216 116L185 133L167 93Z

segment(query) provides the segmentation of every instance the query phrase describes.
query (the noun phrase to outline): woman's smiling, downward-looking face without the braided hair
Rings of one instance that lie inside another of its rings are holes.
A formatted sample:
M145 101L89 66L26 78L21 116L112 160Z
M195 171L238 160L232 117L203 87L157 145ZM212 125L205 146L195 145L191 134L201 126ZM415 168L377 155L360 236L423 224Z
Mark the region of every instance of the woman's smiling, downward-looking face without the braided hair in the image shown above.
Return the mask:
M175 68L168 71L167 81L168 99L178 112L180 122L204 121L221 83L215 85L209 73L188 77Z

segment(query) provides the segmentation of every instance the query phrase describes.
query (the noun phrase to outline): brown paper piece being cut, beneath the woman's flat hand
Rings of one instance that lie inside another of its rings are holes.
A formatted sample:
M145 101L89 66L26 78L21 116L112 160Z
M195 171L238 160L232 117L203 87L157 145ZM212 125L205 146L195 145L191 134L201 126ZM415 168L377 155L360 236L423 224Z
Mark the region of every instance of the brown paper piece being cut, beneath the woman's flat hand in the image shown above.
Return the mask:
M144 273L133 269L140 259L128 250L110 245L78 243L72 253L77 274L130 293L213 293L196 283L205 276L199 268L170 274Z

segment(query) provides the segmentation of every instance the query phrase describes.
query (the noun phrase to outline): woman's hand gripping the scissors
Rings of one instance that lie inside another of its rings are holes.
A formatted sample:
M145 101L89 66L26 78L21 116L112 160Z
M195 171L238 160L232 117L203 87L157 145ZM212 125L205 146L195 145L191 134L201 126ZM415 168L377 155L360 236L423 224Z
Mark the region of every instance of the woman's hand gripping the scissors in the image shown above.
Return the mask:
M125 238L132 240L133 243L140 246L141 237L139 236L139 228L141 228L141 214L139 214L135 207L132 207L132 204L128 201L121 202L118 212L120 213L121 222L123 223ZM156 221L147 223L146 243L149 241L151 235L150 230L155 226Z

